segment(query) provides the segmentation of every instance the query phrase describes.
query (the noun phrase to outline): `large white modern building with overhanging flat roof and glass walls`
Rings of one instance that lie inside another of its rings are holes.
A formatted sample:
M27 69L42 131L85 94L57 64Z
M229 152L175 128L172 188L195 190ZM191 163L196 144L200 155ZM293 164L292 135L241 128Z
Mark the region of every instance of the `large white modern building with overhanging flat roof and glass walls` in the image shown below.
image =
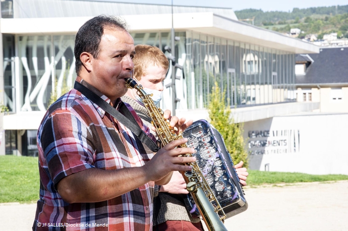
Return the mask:
M246 125L319 109L317 102L296 102L295 87L296 54L316 54L319 47L240 22L230 8L174 5L173 12L171 5L113 0L1 0L0 89L9 112L0 117L0 154L37 155L36 132L50 99L72 88L76 77L75 35L99 14L121 16L135 44L157 46L183 66L175 69L178 116L208 118L215 82L235 121ZM166 49L172 18L173 54ZM172 67L167 76L161 106L172 109Z

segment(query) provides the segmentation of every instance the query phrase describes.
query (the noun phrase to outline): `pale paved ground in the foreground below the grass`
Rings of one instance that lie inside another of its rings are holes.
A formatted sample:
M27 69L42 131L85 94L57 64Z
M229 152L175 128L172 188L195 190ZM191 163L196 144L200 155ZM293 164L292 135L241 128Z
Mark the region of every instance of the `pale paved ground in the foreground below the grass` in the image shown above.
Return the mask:
M348 180L246 187L249 208L229 231L348 231ZM0 231L30 231L35 204L0 204Z

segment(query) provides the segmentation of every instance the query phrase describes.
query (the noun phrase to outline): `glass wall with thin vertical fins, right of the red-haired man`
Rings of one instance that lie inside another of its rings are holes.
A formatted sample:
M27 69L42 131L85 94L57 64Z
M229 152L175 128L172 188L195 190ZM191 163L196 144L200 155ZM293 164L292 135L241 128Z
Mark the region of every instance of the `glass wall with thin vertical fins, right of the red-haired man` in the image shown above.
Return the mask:
M206 108L215 82L231 107L295 101L294 54L192 32L186 52L187 109Z

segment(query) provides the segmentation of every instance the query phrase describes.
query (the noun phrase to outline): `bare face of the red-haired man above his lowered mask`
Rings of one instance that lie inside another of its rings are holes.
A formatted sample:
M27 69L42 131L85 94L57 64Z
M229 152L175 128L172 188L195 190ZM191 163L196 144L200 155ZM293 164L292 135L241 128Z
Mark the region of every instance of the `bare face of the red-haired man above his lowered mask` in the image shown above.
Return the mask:
M163 91L163 80L166 78L167 71L162 66L148 66L145 70L146 75L143 75L139 83L143 87Z

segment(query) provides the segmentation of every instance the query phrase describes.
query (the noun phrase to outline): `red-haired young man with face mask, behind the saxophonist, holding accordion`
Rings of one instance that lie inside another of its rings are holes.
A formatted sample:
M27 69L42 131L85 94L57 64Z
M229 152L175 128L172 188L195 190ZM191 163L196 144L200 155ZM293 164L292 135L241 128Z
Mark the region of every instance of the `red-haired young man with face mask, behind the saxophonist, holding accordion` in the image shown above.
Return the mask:
M135 46L135 52L137 55L133 58L134 77L144 87L146 93L153 94L152 99L155 104L158 104L162 99L163 81L169 68L168 58L157 47L148 45ZM151 118L135 89L129 89L121 99L135 109L144 124L151 127ZM154 131L152 132L155 134ZM243 162L235 167L241 183L246 185L248 172L242 166ZM187 193L186 183L179 172L173 173L172 179L167 185L155 185L154 230L203 230L200 219L192 218L186 210L181 195Z

